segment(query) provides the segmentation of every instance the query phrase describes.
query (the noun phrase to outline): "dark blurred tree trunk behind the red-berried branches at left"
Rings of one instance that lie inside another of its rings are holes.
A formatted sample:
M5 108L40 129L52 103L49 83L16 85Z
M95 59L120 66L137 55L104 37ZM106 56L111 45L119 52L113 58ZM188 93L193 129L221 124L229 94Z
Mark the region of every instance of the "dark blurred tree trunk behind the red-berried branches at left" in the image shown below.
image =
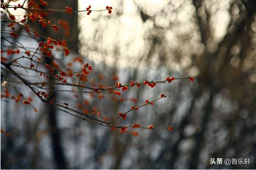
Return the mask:
M65 9L66 6L72 7L73 10L78 10L78 1L77 0L72 0L72 1L65 1L63 3L63 0L48 0L48 6L41 8L51 8L51 9ZM45 37L51 37L52 39L58 39L60 38L61 40L66 40L67 41L67 46L70 50L74 52L78 52L78 25L77 25L77 18L78 14L76 12L70 14L67 14L66 12L52 12L49 13L49 15L46 17L47 20L50 20L52 24L58 25L60 27L60 31L56 32L54 29L50 26L47 26L46 28L41 27L41 25L35 25L36 29L39 34L44 35ZM65 30L64 28L58 24L58 20L63 20L68 23L69 31L70 31L70 36L65 36ZM72 33L71 33L72 31ZM42 41L45 41L42 40ZM62 53L63 55L63 53ZM52 57L45 57L45 61L47 64L52 65ZM55 73L54 73L55 74ZM54 78L49 77L49 81L53 82ZM49 94L52 94L54 92L55 87L51 87L51 91ZM54 92L54 95L52 97L58 98L58 94ZM65 160L65 154L62 149L62 142L61 142L61 133L58 128L58 117L56 116L56 109L53 109L50 106L45 106L45 110L47 111L48 118L49 118L49 131L50 131L50 136L52 139L52 155L54 156L54 160L56 162L56 168L58 169L68 169L67 162Z

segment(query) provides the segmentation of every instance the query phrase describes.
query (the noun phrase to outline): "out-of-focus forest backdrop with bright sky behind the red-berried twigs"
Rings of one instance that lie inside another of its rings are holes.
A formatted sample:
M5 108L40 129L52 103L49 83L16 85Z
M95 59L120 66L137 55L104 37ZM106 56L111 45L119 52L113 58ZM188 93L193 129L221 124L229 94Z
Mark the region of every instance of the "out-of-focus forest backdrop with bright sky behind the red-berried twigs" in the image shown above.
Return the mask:
M47 2L49 5L42 8L72 6L77 10L87 3ZM96 71L91 80L108 86L114 86L115 81L195 77L194 82L175 80L155 88L130 88L121 97L101 94L93 98L78 92L74 98L74 93L61 91L63 86L49 86L70 105L83 104L87 109L96 106L103 117L109 118L143 103L145 98L154 99L164 93L167 98L155 102L153 107L133 111L117 123L172 125L173 131L138 129L138 136L134 136L133 129L128 129L121 134L71 117L40 100L35 101L39 109L35 113L28 106L4 99L1 129L10 132L10 137L1 134L2 169L256 168L256 1L162 0L160 5L158 1L151 2L113 0L108 4L101 2L102 7L92 6L97 9L110 5L111 15L49 14L47 18L52 23L68 21L69 37L63 37L63 30L56 33L36 22L30 23L30 27L45 37L66 39L72 51L68 56L71 61L72 57L83 56ZM132 6L127 8L127 4ZM129 10L132 12L127 14ZM1 14L1 20L6 19L5 15ZM1 49L4 28L6 23L1 22ZM41 41L20 37L24 46L36 48ZM12 43L17 42L12 39ZM68 57L63 66L70 61ZM51 58L47 62L52 63ZM6 77L15 80L2 67L1 93ZM99 80L101 74L104 78ZM119 80L115 80L117 77ZM32 95L25 86L15 86ZM85 99L88 105L84 104ZM210 158L250 158L251 162L211 165Z

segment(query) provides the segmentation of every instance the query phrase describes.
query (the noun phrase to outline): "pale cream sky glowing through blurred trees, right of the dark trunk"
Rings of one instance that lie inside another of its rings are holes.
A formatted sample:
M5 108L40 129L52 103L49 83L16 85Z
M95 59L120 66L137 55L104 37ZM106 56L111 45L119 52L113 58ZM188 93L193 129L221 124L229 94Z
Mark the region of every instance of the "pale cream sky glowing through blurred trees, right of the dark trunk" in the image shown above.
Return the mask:
M107 12L92 12L89 16L85 13L78 14L78 25L81 31L79 38L82 45L80 53L88 56L96 63L100 63L105 59L104 56L107 56L107 63L112 65L115 62L114 57L118 56L120 66L130 67L129 63L133 63L134 59L137 59L147 51L145 49L149 48L147 43L148 31L152 29L154 23L152 20L147 20L143 23L136 5L142 7L147 14L155 15L155 24L157 26L168 29L165 35L165 43L170 46L170 49L175 49L179 45L179 43L176 43L179 41L177 33L186 34L193 27L191 20L194 6L190 1L171 0L169 8L167 8L169 0L123 0L123 4L120 2L122 1L78 0L78 10L84 10L88 5L91 5L91 9L95 10L104 9L105 6L113 7L113 12L110 15ZM229 20L229 15L226 11L229 7L228 3L229 0L216 6L219 10L212 18L212 22L215 25L212 31L216 40L221 39L226 31ZM180 6L182 6L181 9ZM176 9L179 10L175 11ZM164 12L161 12L161 10ZM173 25L170 25L170 23L173 23ZM98 31L97 35L99 37L94 37L96 31ZM200 41L200 36L198 35L192 35L192 38L194 39L193 41ZM199 53L204 50L204 47L201 46L200 43L194 43L194 48ZM214 47L209 48L214 50ZM97 51L99 49L100 51ZM115 53L116 49L119 49L118 55ZM190 65L190 52L187 51L184 55L188 57L184 57L179 64L175 63L173 65L173 68L176 68L177 71ZM155 57L157 62L159 56L156 54ZM190 72L193 72L193 68ZM196 74L196 68L194 72Z

